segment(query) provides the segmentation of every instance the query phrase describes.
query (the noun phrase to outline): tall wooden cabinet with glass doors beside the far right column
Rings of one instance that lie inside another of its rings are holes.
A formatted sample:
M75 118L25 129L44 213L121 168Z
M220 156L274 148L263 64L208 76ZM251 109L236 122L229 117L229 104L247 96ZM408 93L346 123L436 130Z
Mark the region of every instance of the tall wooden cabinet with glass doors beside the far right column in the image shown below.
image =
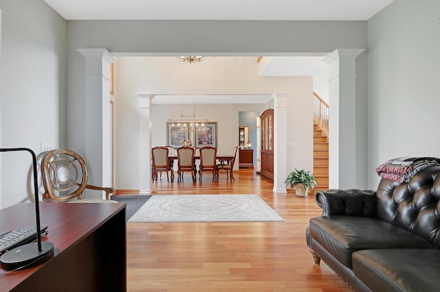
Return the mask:
M274 110L265 110L261 119L261 175L274 179Z

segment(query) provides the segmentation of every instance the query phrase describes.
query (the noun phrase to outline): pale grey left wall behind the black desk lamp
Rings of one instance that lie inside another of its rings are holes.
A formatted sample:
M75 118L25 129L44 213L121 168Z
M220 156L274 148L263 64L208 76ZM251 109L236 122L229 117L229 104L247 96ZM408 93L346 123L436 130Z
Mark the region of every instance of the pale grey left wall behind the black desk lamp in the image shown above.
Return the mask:
M1 147L65 145L66 21L42 0L3 0ZM2 205L33 197L28 152L2 154ZM31 176L32 177L32 176Z

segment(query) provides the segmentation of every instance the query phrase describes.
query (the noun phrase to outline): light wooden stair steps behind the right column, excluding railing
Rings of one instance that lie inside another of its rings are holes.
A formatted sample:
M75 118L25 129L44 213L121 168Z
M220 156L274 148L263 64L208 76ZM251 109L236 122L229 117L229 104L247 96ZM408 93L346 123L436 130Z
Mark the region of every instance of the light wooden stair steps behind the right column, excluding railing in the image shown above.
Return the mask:
M314 124L314 177L319 190L329 189L329 138L318 124Z

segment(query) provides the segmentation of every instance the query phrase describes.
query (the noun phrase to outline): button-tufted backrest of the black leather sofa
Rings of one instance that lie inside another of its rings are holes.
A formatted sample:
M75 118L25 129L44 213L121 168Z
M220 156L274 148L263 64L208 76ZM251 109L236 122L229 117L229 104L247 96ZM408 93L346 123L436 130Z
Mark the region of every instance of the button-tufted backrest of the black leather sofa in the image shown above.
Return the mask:
M440 248L440 167L423 169L408 183L382 179L376 195L377 219Z

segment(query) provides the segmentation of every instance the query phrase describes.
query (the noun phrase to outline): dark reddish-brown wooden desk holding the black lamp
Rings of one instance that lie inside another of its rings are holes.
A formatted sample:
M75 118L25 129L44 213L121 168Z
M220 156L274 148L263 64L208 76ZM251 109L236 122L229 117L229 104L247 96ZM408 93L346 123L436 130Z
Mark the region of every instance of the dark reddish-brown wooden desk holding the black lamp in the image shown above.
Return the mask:
M40 213L55 256L0 276L1 291L126 291L125 204L40 203ZM34 204L0 210L0 232L28 226Z

